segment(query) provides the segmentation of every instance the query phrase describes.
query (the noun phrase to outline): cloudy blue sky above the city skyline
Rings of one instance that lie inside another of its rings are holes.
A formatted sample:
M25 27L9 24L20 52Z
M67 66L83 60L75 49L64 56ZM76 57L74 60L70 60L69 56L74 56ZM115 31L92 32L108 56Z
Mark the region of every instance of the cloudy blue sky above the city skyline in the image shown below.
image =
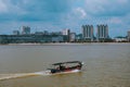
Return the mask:
M81 33L82 25L107 24L110 37L130 30L130 0L0 0L0 34L22 26L35 32Z

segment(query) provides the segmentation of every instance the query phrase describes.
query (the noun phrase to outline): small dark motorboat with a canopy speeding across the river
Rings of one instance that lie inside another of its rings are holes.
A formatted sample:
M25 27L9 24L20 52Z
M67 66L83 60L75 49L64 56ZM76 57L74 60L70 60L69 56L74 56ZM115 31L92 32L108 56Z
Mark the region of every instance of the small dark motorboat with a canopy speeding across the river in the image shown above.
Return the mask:
M83 63L80 61L60 62L52 64L52 69L48 69L50 74L64 74L80 72Z

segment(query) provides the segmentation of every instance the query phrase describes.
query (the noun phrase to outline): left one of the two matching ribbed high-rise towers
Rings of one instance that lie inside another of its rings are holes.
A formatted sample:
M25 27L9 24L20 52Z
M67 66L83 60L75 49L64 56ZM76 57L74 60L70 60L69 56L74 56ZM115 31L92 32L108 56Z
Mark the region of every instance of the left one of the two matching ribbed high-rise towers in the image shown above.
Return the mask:
M82 25L82 38L86 41L93 41L93 26L92 25Z

